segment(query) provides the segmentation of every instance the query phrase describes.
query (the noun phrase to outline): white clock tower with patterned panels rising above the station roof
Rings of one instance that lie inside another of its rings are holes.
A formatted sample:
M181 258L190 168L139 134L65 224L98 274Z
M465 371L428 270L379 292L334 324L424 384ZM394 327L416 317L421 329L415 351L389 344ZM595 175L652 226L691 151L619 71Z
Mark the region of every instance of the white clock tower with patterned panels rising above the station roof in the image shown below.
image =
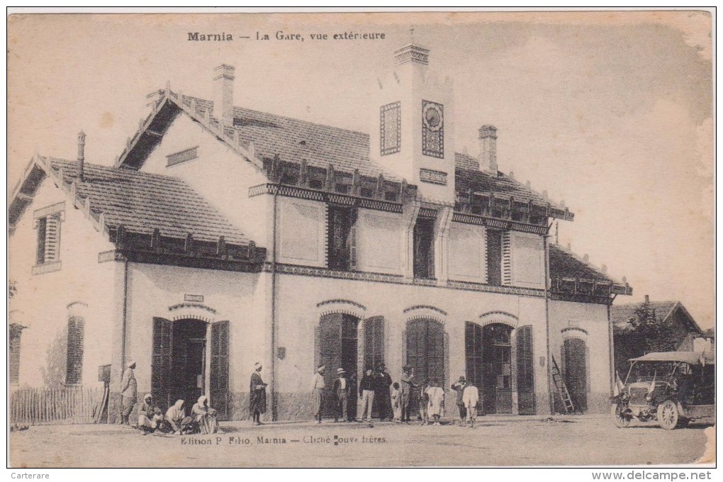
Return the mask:
M429 49L411 40L375 88L370 155L419 187L422 199L454 202L453 85L429 67Z

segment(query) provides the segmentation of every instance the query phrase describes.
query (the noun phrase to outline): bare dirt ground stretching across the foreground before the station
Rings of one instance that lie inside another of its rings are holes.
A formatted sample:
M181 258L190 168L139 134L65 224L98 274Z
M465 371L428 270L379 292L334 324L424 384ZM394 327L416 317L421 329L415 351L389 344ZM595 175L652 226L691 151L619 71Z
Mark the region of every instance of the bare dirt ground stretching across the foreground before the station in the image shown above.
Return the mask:
M479 426L222 423L226 434L142 436L121 426L33 426L10 434L13 467L659 465L703 455L706 428L617 429L602 416L479 418Z

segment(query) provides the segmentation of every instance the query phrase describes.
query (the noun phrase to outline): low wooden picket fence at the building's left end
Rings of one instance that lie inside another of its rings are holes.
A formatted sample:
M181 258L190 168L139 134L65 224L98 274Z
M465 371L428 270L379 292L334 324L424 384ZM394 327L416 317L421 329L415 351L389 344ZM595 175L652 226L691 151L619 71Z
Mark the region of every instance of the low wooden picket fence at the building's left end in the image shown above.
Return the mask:
M103 410L102 388L23 388L10 395L10 423L51 425L97 423Z

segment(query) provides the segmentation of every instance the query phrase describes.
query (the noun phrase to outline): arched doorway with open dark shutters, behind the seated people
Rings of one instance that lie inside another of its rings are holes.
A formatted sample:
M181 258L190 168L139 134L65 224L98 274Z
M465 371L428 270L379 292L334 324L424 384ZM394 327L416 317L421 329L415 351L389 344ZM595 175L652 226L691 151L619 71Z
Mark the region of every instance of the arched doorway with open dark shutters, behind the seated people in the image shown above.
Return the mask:
M210 395L213 408L226 418L228 322L154 318L151 394L162 410L185 400L187 412L198 397Z

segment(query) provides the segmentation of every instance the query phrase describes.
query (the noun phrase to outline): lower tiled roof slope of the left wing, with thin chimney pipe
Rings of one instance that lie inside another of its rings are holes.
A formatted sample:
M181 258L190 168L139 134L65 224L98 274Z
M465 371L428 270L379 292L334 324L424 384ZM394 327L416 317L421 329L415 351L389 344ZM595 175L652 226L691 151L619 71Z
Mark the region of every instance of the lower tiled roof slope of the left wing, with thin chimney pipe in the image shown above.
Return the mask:
M77 163L48 158L66 183L77 181ZM213 206L179 178L85 163L84 181L77 181L77 197L90 198L93 214L103 213L106 225L125 226L135 233L248 244L244 233L231 225Z

